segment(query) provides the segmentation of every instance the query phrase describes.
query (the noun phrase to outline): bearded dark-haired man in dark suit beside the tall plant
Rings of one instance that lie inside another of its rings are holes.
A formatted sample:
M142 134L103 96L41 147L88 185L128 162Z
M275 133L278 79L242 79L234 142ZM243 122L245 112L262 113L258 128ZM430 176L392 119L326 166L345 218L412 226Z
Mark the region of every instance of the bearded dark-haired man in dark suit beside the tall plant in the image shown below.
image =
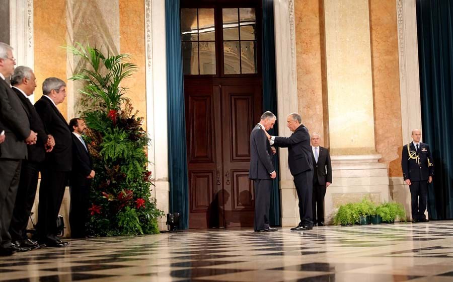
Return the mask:
M69 121L69 128L72 130L69 225L71 227L71 238L85 238L90 186L95 171L93 170L88 144L82 137L87 129L85 121L81 118L73 118Z

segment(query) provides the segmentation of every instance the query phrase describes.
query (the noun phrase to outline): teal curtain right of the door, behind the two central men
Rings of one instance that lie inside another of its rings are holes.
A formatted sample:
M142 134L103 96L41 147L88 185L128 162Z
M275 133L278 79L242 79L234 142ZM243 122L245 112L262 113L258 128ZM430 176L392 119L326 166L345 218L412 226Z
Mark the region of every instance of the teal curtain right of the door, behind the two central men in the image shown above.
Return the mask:
M263 0L263 109L277 115L277 87L275 81L275 38L274 38L274 2ZM277 123L270 130L271 135L278 135ZM278 156L274 155L274 164L278 168ZM278 170L277 170L278 172ZM271 225L281 225L279 180L273 181L269 221Z

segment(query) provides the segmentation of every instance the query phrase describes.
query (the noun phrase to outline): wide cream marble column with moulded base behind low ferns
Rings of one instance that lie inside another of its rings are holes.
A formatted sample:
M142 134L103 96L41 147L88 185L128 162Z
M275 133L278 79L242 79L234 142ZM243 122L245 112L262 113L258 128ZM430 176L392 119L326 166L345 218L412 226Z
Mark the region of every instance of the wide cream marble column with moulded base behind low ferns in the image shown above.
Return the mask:
M333 184L326 221L338 205L364 196L389 200L387 166L374 140L373 82L367 0L324 0L329 144Z

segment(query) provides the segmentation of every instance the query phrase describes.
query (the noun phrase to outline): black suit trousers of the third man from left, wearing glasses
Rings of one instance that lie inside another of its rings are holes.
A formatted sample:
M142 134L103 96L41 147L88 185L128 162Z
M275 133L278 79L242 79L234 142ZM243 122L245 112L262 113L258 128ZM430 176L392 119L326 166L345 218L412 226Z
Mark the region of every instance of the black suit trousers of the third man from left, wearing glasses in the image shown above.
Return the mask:
M57 218L64 196L69 172L43 168L39 186L38 224L36 239L54 242L57 235Z

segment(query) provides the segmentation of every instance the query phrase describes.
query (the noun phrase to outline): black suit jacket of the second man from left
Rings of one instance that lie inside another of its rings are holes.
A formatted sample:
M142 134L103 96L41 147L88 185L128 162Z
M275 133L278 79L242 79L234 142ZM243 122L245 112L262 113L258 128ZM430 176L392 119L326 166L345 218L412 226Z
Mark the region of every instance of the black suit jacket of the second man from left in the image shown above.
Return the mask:
M28 98L24 96L24 94L18 90L17 88L12 88L14 92L16 92L17 96L22 102L22 105L27 110L28 121L30 122L30 129L38 133L38 139L36 140L36 144L28 145L28 160L30 162L41 163L44 162L46 157L46 148L45 145L47 143L47 132L42 123L41 117L39 116L38 112L36 111L33 104L30 102Z

